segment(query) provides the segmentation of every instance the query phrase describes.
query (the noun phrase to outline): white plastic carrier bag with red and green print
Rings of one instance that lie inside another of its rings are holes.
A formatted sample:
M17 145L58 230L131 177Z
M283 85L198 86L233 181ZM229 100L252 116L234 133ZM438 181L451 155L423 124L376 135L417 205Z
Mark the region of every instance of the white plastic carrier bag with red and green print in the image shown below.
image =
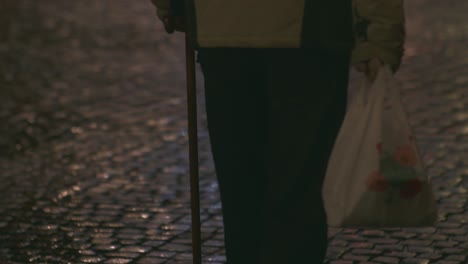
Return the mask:
M388 65L348 107L323 187L332 227L433 226L432 184Z

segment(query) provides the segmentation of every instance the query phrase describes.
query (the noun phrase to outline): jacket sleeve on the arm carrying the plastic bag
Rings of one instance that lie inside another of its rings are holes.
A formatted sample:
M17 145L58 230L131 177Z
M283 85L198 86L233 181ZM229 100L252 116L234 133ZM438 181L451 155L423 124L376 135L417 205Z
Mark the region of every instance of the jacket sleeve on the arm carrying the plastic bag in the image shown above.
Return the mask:
M404 0L353 0L352 63L380 58L396 72L405 41Z

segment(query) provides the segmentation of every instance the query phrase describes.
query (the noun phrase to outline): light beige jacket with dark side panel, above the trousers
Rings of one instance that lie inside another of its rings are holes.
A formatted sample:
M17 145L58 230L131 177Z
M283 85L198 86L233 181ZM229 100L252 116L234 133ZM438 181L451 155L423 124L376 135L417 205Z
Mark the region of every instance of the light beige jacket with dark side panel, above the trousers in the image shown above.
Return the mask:
M160 19L170 0L152 0ZM180 0L184 1L184 0ZM396 71L403 56L403 0L189 0L194 48L322 47L378 57Z

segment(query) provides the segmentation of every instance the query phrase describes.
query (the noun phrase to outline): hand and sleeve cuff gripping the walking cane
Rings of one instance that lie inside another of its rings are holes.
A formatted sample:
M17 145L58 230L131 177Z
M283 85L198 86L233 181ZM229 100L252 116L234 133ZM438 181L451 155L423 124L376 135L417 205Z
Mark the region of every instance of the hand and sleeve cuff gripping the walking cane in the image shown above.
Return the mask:
M186 32L186 18L185 16L174 16L171 13L171 0L151 0L151 3L156 6L156 15L163 22L167 33Z

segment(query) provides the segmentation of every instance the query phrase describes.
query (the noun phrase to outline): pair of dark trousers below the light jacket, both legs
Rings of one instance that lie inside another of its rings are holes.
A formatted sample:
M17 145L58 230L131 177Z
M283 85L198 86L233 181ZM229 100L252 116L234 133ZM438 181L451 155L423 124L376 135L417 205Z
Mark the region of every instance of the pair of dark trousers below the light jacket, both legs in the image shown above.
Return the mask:
M229 264L317 264L321 189L346 108L349 53L205 48L198 61Z

